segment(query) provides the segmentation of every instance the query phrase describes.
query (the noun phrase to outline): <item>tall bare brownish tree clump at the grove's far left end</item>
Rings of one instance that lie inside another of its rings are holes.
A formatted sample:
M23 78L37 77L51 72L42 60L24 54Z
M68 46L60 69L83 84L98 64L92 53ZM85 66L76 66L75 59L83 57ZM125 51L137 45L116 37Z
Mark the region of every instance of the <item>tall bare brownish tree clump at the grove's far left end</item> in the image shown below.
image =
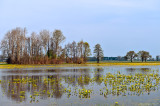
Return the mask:
M24 56L26 29L15 28L5 35L1 42L1 49L4 55L8 56L9 63L20 63Z

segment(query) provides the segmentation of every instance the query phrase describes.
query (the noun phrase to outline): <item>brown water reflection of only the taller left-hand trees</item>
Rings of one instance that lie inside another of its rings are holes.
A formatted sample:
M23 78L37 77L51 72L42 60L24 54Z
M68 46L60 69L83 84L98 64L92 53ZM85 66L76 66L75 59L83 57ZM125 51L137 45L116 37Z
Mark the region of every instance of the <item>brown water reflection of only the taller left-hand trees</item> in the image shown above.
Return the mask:
M26 92L39 96L61 98L63 86L58 75L52 76L3 76L2 89L8 98L15 101L26 100ZM33 98L35 99L35 98Z

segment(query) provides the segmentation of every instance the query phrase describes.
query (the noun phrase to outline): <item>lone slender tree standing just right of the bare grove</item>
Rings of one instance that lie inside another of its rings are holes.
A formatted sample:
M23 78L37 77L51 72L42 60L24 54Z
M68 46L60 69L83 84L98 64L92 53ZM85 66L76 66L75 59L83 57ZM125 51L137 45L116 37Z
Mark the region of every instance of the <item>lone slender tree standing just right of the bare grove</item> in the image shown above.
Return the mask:
M96 44L94 47L94 56L97 58L97 63L103 58L103 50L100 44Z

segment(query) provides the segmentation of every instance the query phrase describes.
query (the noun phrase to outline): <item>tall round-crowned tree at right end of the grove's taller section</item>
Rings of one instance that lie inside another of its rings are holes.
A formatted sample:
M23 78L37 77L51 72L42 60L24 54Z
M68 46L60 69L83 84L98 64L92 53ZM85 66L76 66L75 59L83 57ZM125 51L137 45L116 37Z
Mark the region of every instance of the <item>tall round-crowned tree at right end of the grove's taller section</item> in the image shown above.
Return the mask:
M58 47L59 45L66 39L66 37L62 34L61 30L55 30L53 32L53 42L55 44L55 51L56 51L56 55L57 55L57 51L58 51ZM56 56L57 58L57 56Z

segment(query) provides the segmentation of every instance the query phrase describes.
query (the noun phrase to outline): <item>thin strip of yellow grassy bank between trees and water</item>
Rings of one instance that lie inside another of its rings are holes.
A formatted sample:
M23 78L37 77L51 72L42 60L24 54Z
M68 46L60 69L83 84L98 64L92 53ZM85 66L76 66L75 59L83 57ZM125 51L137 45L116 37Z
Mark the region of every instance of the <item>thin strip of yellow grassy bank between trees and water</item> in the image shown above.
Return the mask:
M88 62L86 64L47 64L47 65L18 65L18 64L0 64L0 69L22 69L22 68L52 68L52 67L88 67L88 66L156 66L160 65L160 62Z

